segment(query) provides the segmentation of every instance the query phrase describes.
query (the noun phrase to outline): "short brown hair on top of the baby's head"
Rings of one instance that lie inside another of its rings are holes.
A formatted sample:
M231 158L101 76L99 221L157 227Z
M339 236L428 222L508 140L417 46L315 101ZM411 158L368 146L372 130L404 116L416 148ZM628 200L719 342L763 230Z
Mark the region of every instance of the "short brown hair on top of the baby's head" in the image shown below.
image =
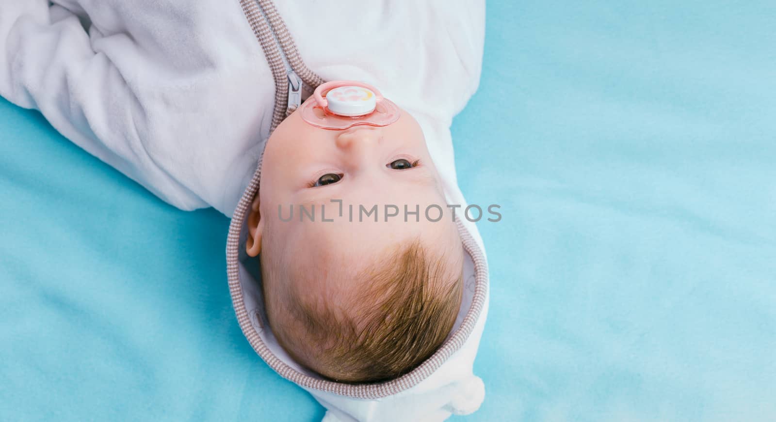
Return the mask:
M456 321L462 268L431 259L417 240L386 258L360 273L363 288L339 306L292 293L286 306L296 330L283 324L276 333L283 348L320 375L352 383L394 379L433 355Z

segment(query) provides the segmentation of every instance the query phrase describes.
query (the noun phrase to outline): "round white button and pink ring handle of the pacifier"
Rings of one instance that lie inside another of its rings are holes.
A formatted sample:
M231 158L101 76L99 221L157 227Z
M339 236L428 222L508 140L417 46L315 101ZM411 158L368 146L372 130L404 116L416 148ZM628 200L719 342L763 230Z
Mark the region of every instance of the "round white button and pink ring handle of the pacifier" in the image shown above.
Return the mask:
M326 98L323 92L327 92ZM374 112L383 102L377 88L359 81L326 82L318 85L313 95L317 105L338 116L363 116Z

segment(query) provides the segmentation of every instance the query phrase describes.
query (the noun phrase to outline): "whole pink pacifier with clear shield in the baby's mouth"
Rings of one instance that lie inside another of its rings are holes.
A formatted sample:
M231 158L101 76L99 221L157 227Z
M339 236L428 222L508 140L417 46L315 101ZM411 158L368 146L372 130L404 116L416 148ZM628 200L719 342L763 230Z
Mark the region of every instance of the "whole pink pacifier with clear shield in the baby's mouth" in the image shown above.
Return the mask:
M331 81L318 85L312 98L300 106L302 119L327 130L388 126L399 119L399 107L377 88L357 81Z

